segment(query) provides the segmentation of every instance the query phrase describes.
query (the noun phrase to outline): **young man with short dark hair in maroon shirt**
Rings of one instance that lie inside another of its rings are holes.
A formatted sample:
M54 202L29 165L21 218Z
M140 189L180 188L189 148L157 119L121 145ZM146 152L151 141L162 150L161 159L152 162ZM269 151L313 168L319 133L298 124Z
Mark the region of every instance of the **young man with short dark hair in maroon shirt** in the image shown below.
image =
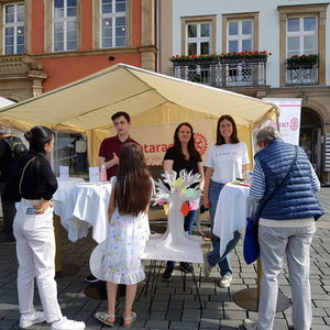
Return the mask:
M129 113L124 111L116 112L111 117L111 120L117 131L117 135L105 139L99 151L99 166L102 164L106 165L108 180L118 173L121 147L128 142L139 144L136 141L131 139L129 134L131 127L131 118Z

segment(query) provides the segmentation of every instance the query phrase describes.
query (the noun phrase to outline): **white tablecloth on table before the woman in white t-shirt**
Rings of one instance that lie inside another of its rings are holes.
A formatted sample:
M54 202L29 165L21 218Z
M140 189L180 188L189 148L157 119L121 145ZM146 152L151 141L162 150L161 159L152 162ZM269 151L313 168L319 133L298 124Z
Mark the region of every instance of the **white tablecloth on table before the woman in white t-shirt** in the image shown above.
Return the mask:
M220 255L233 239L237 230L245 229L250 215L250 187L227 184L219 196L215 215L213 233L220 238Z

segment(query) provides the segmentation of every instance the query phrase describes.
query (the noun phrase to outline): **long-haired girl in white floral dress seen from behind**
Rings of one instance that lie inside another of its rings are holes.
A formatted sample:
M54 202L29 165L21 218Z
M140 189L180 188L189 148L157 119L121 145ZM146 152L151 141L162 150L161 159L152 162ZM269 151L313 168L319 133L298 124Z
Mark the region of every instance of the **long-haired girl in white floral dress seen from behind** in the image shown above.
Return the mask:
M140 145L127 143L120 152L118 177L110 197L103 277L107 280L108 310L95 317L107 326L116 319L118 284L127 285L123 327L132 327L138 283L145 278L141 254L150 234L148 205L152 180Z

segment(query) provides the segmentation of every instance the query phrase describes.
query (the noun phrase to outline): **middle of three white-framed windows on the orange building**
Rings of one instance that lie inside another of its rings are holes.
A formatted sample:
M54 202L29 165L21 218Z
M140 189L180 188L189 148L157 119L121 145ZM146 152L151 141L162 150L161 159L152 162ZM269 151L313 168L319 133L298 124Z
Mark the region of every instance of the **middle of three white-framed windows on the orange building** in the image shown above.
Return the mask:
M53 51L76 51L78 44L77 0L54 0Z

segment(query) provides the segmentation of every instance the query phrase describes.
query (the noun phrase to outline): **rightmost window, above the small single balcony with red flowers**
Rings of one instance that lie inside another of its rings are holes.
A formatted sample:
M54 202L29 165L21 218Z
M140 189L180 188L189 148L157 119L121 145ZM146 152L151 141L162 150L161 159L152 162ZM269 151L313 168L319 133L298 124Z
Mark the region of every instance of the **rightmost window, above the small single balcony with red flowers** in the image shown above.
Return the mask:
M290 18L287 20L287 57L318 54L317 18Z

